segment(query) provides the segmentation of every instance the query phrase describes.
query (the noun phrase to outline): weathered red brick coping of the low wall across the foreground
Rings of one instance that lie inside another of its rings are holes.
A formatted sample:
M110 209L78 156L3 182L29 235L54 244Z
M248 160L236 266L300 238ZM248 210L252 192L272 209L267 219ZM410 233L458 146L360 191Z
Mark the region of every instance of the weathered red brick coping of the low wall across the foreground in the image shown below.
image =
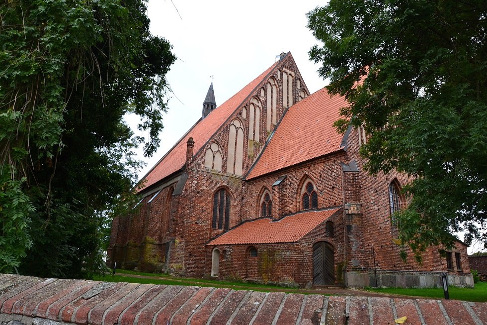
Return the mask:
M0 324L487 324L487 303L235 291L0 274Z

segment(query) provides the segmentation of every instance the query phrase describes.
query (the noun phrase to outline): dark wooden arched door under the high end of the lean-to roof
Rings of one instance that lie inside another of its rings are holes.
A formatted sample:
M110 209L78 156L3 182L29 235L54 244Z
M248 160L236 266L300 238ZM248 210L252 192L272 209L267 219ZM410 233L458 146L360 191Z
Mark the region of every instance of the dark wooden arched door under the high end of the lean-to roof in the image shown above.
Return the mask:
M313 284L335 284L335 257L333 246L325 241L313 245Z

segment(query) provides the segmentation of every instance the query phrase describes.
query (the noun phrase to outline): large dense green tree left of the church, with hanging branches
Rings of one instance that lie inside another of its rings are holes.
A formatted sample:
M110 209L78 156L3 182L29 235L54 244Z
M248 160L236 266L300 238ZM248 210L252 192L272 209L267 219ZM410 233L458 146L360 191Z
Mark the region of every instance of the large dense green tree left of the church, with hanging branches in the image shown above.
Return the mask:
M83 277L159 145L175 57L144 0L0 5L0 272ZM135 137L124 115L140 116Z

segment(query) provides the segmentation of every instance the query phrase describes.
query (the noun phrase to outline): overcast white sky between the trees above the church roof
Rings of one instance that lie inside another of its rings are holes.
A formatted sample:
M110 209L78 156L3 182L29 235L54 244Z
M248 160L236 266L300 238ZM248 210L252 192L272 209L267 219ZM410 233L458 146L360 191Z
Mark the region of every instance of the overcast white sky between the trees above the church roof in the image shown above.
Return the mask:
M178 59L166 76L173 94L168 94L169 110L163 116L161 147L152 158L143 159L147 166L139 176L201 117L212 80L218 107L270 67L281 52L291 51L310 92L325 87L316 72L319 66L309 60L308 51L317 41L306 27L306 13L325 3L150 0L151 31L173 45ZM134 128L137 119L129 120Z

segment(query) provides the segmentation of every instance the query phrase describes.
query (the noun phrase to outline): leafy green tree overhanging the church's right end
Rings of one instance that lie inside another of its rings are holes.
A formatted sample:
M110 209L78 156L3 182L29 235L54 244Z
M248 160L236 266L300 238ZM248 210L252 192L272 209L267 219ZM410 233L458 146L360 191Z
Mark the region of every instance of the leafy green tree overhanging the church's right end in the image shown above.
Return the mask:
M487 246L487 2L330 0L308 13L340 130L364 125L366 170L410 176L397 216L420 258L453 233Z

